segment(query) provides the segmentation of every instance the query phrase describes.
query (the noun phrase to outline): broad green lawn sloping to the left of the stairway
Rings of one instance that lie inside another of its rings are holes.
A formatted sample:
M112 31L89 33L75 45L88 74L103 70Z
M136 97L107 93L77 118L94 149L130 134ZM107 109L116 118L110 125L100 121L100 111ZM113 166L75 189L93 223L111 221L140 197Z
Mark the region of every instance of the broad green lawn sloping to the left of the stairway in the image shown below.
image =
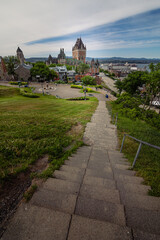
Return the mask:
M3 89L0 87L1 93ZM64 158L65 148L73 142L75 146L82 143L84 126L97 106L95 98L27 98L18 92L16 88L5 88L0 96L0 181L25 171L45 154L49 155L51 174L58 159ZM70 131L77 124L81 130Z

